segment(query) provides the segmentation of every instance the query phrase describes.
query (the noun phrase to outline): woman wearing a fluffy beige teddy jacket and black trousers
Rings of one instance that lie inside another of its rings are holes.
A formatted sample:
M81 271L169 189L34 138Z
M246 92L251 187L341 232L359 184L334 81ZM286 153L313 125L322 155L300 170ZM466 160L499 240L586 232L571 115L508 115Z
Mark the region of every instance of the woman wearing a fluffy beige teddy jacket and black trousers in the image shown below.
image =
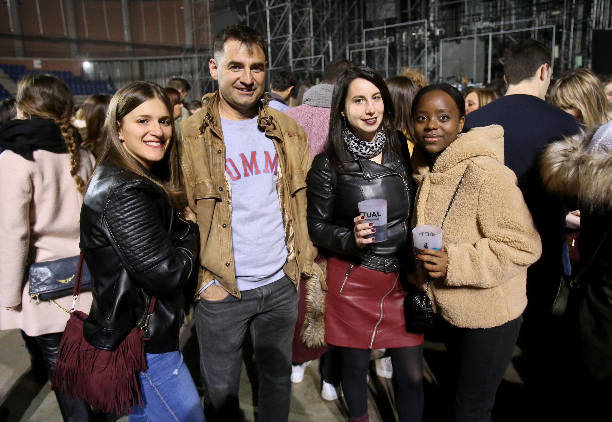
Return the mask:
M444 223L442 250L417 251L419 288L430 283L428 296L441 317L435 328L443 333L455 375L455 421L490 421L540 237L517 178L504 166L501 126L461 135L464 100L447 84L419 91L412 116L418 186L412 224Z

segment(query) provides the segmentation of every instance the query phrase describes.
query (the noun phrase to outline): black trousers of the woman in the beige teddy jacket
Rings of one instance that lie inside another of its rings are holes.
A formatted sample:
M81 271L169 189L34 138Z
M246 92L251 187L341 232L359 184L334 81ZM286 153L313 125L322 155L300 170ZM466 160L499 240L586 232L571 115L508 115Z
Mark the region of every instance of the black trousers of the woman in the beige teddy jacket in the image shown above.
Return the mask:
M455 385L455 422L490 422L495 394L510 364L521 317L492 328L458 328L440 317Z

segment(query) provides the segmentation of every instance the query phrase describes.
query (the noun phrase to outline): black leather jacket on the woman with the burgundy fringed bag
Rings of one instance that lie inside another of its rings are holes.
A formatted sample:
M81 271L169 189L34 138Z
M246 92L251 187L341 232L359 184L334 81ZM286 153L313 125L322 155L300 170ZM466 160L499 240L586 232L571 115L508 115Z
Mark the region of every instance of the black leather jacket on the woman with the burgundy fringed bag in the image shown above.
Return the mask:
M81 251L91 273L93 303L86 341L115 350L142 326L151 296L147 353L179 347L185 295L198 274L198 226L179 218L163 189L131 171L102 163L81 208Z

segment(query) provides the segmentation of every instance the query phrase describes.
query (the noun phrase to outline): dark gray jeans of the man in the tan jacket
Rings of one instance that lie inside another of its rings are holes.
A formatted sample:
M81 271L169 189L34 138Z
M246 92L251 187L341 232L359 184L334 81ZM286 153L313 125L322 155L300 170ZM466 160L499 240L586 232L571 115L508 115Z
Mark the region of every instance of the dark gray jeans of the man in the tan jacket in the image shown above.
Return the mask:
M259 372L259 420L286 422L291 401L291 342L299 292L288 277L220 301L200 300L195 308L210 422L239 418L242 342L251 331Z

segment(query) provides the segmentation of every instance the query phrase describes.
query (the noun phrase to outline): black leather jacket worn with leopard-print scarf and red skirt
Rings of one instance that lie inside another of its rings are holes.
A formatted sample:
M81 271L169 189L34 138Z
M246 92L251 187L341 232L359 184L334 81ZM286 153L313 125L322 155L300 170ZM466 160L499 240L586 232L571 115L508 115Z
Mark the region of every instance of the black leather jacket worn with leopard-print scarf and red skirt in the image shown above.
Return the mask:
M386 272L398 271L408 260L415 194L406 138L398 131L395 136L400 138L401 157L389 150L383 152L382 164L376 164L346 151L349 160L340 174L324 152L313 160L306 181L308 233L313 243ZM388 237L360 250L353 236L353 219L359 215L357 203L367 199L387 200Z

